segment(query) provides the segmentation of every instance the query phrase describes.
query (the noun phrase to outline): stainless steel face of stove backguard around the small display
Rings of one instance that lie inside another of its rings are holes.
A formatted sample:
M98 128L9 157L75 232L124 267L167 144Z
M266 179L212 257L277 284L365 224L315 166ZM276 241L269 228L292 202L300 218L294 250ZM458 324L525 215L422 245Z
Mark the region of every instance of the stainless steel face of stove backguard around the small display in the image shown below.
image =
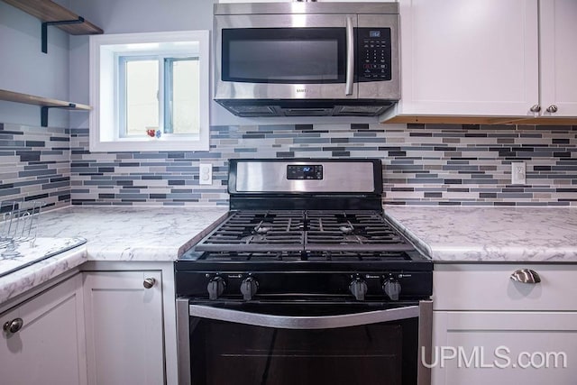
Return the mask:
M288 165L322 165L323 179L287 179ZM368 161L239 161L236 192L373 193L373 163Z

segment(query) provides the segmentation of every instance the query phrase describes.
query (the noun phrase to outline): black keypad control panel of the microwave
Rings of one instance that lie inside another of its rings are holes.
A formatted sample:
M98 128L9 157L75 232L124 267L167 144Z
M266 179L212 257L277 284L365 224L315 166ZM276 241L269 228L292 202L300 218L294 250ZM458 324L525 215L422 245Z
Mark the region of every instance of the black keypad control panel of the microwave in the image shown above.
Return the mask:
M358 81L391 79L390 28L356 28Z

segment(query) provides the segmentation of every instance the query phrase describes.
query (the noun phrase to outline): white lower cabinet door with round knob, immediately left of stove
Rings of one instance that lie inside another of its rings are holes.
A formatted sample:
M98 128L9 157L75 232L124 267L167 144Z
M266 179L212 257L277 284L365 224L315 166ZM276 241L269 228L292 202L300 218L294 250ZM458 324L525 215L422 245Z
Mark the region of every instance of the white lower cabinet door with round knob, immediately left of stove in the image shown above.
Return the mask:
M84 274L88 383L164 383L160 271Z

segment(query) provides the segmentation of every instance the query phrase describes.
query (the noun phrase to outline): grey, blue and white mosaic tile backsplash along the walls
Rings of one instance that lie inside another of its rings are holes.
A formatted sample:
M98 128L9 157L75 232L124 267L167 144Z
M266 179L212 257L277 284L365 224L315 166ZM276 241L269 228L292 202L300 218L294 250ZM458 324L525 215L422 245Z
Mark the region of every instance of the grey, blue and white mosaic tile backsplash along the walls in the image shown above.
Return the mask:
M0 131L3 198L48 195L55 204L70 198L75 205L228 205L231 158L374 157L383 162L387 204L577 206L577 126L213 126L211 151L117 153L90 153L87 129L50 129L41 139L41 129L16 128L6 124ZM69 163L55 160L60 155L55 151L65 158L68 148ZM526 185L510 184L511 161L527 163ZM213 164L212 186L198 185L199 162ZM55 183L69 183L68 190Z

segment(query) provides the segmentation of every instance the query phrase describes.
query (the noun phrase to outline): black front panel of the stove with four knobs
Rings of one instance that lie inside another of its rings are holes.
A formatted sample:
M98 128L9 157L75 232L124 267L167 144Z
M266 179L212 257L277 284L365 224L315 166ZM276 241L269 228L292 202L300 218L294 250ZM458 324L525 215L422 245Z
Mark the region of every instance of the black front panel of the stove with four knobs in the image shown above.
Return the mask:
M177 295L209 300L342 298L397 302L430 298L432 271L177 271Z

